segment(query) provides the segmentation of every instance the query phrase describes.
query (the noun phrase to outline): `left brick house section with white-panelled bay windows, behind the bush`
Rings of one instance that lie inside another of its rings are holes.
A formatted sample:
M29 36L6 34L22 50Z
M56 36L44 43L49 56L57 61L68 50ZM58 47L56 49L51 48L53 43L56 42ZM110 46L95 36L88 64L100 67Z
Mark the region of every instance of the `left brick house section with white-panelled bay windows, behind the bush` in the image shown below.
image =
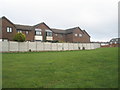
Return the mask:
M0 19L2 22L2 40L12 41L16 33L23 33L26 36L26 41L45 41L53 40L52 30L44 23L37 25L18 25L12 23L6 17Z

